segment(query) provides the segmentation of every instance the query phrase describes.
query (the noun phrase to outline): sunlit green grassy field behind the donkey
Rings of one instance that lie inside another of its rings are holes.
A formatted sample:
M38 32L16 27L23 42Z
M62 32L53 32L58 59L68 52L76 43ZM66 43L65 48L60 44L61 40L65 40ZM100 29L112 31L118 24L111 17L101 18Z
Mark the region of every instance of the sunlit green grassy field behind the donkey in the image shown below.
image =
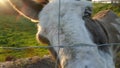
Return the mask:
M106 9L113 10L120 16L120 8L112 7L110 4L94 4L94 14ZM0 47L24 47L40 46L35 38L37 32L36 24L23 17L15 15L0 14ZM43 56L48 54L47 49L26 49L9 50L0 49L0 61L5 61L6 57L25 58L32 56Z

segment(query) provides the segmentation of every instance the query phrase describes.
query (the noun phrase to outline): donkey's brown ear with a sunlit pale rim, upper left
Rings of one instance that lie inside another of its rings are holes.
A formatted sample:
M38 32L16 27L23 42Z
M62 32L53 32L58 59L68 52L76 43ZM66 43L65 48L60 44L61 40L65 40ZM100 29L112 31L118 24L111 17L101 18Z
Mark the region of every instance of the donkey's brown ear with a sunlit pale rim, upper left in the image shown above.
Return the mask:
M10 5L22 16L38 22L38 14L48 0L8 0Z

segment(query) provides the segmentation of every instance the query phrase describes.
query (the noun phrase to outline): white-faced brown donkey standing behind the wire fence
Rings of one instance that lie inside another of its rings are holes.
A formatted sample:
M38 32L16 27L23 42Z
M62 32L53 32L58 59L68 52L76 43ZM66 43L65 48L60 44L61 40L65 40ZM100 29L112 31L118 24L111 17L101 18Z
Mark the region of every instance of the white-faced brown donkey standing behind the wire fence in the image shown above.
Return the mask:
M39 21L37 40L53 46L49 50L59 68L115 68L114 54L117 50L113 46L99 45L120 42L119 21L114 19L112 26L107 25L105 22L109 18L104 12L91 18L92 3L86 0L21 1L24 10L17 11L28 19ZM109 11L105 12L109 17ZM110 27L115 34L108 30ZM114 36L117 39L111 40Z

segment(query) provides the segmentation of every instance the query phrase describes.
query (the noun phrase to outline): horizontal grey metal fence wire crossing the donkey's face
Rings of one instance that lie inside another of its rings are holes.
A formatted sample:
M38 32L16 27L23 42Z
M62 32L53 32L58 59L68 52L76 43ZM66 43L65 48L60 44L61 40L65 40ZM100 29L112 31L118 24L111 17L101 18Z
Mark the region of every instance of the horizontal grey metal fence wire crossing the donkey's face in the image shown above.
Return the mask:
M101 46L120 46L120 43L109 43L109 44L100 44L100 45L92 45L92 44L74 44L74 45L60 45L60 46L28 46L28 47L0 47L0 49L12 49L12 50L25 50L30 48L66 48L66 47L101 47Z

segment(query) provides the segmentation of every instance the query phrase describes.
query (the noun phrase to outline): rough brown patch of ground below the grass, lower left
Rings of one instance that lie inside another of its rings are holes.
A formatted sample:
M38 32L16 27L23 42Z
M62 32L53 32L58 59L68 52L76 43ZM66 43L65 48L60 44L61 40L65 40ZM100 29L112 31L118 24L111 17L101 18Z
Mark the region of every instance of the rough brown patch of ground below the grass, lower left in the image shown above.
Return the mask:
M15 61L1 62L0 68L55 68L55 62L51 57L17 59Z

